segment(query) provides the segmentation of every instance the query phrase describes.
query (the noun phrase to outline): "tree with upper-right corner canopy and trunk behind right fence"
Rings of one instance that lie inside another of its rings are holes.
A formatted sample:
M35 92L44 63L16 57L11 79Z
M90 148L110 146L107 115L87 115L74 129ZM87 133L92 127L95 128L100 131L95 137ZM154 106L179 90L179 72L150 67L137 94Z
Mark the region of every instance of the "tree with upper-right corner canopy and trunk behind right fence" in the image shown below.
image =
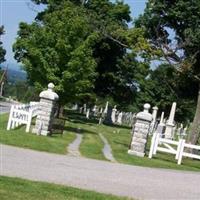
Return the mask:
M152 46L160 49L177 71L200 83L200 0L149 0L136 26L146 29ZM189 136L193 144L200 137L200 89L198 94Z

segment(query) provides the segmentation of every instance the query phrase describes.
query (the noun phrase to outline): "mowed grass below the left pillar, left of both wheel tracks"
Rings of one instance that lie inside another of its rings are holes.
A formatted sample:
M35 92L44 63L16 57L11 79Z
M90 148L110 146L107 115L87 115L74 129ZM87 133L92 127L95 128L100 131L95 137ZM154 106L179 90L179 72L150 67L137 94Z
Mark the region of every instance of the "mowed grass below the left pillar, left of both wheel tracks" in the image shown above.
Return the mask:
M25 132L25 126L7 131L8 115L0 115L0 143L23 148L29 148L50 153L66 154L69 143L75 139L73 132L64 132L63 135L54 134L51 137L37 136Z

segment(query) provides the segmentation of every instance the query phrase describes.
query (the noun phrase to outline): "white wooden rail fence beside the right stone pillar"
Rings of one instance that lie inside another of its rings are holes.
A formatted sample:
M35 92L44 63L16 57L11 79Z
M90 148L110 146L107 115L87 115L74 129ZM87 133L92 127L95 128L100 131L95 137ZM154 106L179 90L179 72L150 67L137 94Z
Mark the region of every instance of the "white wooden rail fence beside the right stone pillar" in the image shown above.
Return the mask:
M174 145L176 148L170 145ZM149 158L152 158L152 156L155 155L157 151L160 151L174 154L178 165L181 164L183 156L200 160L200 155L184 152L185 148L200 150L200 146L187 144L185 143L184 139L179 139L179 141L164 139L160 137L160 134L158 132L154 132L151 139Z

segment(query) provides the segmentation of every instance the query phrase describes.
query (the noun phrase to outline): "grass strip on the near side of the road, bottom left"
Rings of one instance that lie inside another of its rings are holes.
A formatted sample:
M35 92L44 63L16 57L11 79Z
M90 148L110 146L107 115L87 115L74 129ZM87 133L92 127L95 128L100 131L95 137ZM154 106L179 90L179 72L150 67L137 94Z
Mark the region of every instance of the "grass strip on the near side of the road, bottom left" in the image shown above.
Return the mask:
M0 176L1 200L120 200L113 195L81 190L62 185Z

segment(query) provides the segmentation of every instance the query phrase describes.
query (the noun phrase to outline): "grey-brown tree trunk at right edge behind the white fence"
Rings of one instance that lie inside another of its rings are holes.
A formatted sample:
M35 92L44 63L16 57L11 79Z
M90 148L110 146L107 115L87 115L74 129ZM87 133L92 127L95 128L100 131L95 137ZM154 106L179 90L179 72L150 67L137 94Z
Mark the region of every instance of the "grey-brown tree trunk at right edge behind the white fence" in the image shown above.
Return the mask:
M191 144L197 144L199 137L200 137L200 84L199 84L196 112L194 120L192 122L190 133L188 135L188 142Z

